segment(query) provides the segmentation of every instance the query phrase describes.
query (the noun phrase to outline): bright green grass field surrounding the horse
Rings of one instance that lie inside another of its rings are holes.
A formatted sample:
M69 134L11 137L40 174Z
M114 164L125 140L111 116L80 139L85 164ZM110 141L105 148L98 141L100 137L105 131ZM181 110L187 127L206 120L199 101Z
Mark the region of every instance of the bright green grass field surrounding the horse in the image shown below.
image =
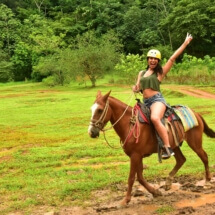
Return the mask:
M101 135L87 134L90 107L97 90L128 103L129 86L71 85L48 88L42 84L0 85L0 211L30 214L36 207L87 206L91 192L123 183L126 186L129 158L120 148L113 130L106 133L112 149ZM215 129L215 100L199 99L163 86L168 103L184 104L201 113ZM208 89L213 91L214 89ZM213 91L214 92L214 91ZM134 105L131 100L130 105ZM215 164L215 140L204 135L210 166ZM204 177L200 159L186 143L187 162L179 175ZM144 159L150 166L147 180L166 177L174 159L158 163L157 155ZM211 169L214 171L214 168Z

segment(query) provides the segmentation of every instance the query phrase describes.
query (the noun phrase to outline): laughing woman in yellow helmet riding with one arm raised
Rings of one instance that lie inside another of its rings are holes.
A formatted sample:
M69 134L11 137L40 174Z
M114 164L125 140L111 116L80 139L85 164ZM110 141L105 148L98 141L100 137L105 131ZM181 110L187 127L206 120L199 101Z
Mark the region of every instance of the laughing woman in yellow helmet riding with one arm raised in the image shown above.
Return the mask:
M144 104L151 110L151 121L158 135L163 140L166 149L162 154L163 159L174 155L174 152L169 144L167 130L161 122L166 110L166 101L160 92L160 84L165 75L170 71L176 58L184 51L192 39L191 34L187 33L184 43L174 52L163 67L159 64L161 60L160 52L154 49L150 50L147 53L148 67L146 71L139 72L137 83L132 88L133 92L142 91Z

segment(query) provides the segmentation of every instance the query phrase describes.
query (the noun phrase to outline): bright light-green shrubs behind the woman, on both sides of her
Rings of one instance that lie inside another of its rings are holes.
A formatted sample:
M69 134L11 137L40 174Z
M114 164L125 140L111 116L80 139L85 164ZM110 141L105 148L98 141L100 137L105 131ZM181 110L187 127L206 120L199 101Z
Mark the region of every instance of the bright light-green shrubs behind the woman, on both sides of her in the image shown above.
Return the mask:
M163 58L162 65L166 63ZM120 62L115 66L115 73L121 77L120 82L134 84L138 72L147 66L145 56L128 54L121 55ZM203 59L184 54L181 63L175 63L164 79L164 83L214 85L215 57L206 55Z

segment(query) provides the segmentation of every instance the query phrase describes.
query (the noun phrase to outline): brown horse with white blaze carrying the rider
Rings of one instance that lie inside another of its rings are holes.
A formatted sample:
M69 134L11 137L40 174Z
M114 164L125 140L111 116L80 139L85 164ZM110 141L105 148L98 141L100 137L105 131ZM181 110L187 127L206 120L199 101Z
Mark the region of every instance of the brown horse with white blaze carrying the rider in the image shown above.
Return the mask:
M129 136L131 129L130 119L132 116L132 107L109 95L110 92L103 96L101 92L98 91L96 101L91 107L92 118L88 133L92 138L98 137L99 132L103 130L106 123L110 121L122 143L124 143L123 149L130 157L130 173L128 177L128 190L125 198L122 201L122 205L127 204L131 200L131 191L136 175L139 183L143 185L151 194L153 194L153 196L161 195L161 192L158 189L153 188L144 179L142 174L142 159L151 155L152 153L158 152L157 139L154 129L149 124L139 124L140 132L138 139L135 137L135 135ZM191 149L200 157L205 166L206 181L210 181L211 175L208 166L208 156L202 148L202 135L204 132L207 136L215 138L215 132L208 127L200 114L194 114L198 120L198 126L190 129L187 132L184 132L180 138L181 141L186 140ZM180 148L176 147L171 135L171 131L169 131L169 139L171 147L175 152L176 165L166 179L166 190L171 188L174 175L186 161L186 158L182 154Z

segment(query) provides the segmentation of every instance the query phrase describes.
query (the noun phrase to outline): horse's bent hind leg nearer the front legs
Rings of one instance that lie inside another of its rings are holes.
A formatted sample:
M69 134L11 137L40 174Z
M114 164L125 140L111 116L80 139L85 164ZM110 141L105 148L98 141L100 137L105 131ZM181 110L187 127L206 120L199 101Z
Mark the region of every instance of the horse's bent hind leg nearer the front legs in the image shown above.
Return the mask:
M182 154L181 149L179 147L176 147L174 149L174 152L175 152L176 164L175 164L174 168L172 169L172 171L169 173L169 177L167 177L167 179L166 179L165 190L169 190L171 188L172 181L173 181L175 174L178 172L178 170L182 167L182 165L186 161L186 158Z

